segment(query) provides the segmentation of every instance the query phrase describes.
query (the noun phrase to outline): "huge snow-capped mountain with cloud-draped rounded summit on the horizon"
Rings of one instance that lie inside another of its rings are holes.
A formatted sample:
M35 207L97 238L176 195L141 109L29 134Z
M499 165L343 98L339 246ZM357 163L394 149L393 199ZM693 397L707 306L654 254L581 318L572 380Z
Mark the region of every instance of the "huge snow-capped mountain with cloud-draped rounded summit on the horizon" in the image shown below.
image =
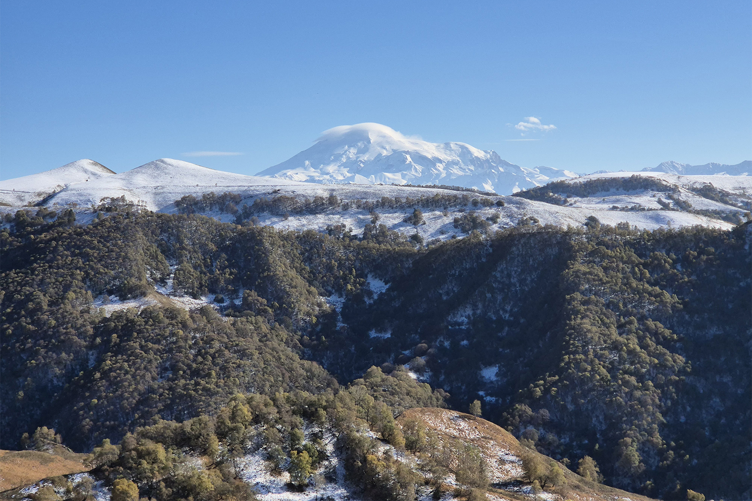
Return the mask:
M523 168L465 143L429 143L378 123L331 128L314 146L256 175L323 184L451 185L501 195L577 177Z

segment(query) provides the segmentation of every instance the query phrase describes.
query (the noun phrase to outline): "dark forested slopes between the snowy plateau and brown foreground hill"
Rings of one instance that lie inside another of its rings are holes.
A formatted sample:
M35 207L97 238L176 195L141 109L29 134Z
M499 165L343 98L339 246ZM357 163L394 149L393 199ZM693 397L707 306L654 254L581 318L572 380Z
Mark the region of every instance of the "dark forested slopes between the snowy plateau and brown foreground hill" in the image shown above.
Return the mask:
M348 431L356 420L399 446L402 409L480 399L530 448L593 457L616 487L749 496L749 223L512 228L428 248L366 230L147 211L81 226L72 212L20 211L0 232L2 448L54 427L77 451L98 446L102 469L131 472L142 492L188 496L203 481L241 496L232 447L256 434L300 461L295 430L326 421L351 451L348 471L367 476L373 446ZM377 294L373 279L390 287ZM168 280L216 294L214 307L186 312L154 294ZM159 303L107 316L92 305L103 294ZM196 419L211 433L191 435ZM162 461L155 444L165 458L214 454L214 479L133 473L138 454ZM382 462L374 496L402 496L415 478Z

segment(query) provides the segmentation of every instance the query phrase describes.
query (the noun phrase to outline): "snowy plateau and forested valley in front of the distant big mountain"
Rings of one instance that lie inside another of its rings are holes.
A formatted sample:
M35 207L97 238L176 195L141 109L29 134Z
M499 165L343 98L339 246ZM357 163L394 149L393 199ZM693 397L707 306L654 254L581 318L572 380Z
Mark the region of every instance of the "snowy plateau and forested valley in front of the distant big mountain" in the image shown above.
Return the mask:
M750 496L752 177L283 177L0 184L8 499Z

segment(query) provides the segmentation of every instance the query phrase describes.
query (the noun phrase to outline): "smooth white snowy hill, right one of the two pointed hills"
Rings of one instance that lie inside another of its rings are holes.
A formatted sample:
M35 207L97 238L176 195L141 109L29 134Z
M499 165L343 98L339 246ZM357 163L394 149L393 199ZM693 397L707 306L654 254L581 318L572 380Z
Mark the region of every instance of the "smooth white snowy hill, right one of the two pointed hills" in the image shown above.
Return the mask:
M212 191L241 192L249 186L297 184L301 183L214 171L187 161L159 158L131 171L85 185L68 186L51 198L48 204L75 203L80 207L90 207L92 204L98 205L102 198L125 195L129 201L138 202L147 209L163 210L183 195L200 196Z

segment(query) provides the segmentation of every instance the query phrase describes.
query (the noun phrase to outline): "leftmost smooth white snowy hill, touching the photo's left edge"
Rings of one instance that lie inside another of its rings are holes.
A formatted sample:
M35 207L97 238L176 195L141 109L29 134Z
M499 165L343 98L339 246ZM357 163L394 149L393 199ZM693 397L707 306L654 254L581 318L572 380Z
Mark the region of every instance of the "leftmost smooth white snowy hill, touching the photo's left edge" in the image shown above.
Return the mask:
M15 206L36 203L66 186L90 183L114 174L104 165L83 158L51 171L0 181L0 202Z

